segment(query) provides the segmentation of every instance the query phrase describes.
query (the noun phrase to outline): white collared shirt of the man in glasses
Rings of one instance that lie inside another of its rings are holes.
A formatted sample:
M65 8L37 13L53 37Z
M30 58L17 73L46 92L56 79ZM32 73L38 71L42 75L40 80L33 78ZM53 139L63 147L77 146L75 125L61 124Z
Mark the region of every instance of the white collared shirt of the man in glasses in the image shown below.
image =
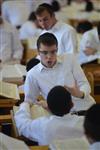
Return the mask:
M74 108L87 109L93 101L90 99L89 83L76 59L72 54L59 56L53 68L46 68L41 63L32 68L25 81L25 101L35 102L37 96L42 94L46 99L47 94L54 86L62 85L73 87L77 82L79 89L85 93L85 98L73 97Z

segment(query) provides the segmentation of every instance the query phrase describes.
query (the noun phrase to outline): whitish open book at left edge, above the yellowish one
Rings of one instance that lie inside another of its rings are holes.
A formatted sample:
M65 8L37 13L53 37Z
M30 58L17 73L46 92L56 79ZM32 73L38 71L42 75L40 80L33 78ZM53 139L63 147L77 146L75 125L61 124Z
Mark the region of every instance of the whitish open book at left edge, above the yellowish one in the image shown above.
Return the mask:
M4 65L1 70L3 81L22 81L26 75L26 67L21 64Z

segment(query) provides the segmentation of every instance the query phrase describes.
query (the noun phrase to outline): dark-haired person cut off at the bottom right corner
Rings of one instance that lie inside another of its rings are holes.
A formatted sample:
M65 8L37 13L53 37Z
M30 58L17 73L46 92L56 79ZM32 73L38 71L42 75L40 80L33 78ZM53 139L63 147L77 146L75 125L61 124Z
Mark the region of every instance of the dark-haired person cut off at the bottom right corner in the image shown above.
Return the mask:
M100 104L94 104L87 110L84 120L84 133L90 143L90 150L100 149Z

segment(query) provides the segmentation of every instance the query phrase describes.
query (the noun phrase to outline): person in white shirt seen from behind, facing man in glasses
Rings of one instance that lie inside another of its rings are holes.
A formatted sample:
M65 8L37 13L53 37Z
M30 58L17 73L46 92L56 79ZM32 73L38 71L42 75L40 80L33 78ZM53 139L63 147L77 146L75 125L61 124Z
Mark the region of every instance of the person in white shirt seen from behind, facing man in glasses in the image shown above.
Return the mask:
M23 102L15 113L19 134L37 141L39 145L48 145L55 139L83 135L81 128L76 127L79 121L83 123L83 118L69 113L73 103L70 93L64 87L56 86L50 90L47 107L50 114L32 119L31 105Z

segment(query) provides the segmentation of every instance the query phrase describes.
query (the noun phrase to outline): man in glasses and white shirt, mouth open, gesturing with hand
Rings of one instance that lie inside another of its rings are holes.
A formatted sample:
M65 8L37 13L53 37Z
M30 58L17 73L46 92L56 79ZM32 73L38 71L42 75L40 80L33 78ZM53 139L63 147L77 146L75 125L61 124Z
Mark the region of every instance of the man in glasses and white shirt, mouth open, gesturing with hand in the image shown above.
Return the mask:
M26 102L35 103L40 93L46 100L51 88L62 85L73 96L75 110L87 109L94 103L79 63L73 54L57 56L58 42L52 33L46 32L38 38L37 49L40 63L27 73L24 85Z

